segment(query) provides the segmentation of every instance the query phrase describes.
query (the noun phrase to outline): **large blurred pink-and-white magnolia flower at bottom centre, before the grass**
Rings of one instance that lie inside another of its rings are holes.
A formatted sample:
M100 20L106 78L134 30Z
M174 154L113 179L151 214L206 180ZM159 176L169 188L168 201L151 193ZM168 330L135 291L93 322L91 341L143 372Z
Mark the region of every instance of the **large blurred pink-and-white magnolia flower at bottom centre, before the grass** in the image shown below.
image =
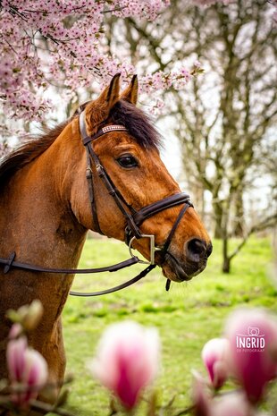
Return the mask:
M154 328L146 329L135 322L114 324L102 336L90 368L130 410L138 403L141 390L155 378L159 349Z

